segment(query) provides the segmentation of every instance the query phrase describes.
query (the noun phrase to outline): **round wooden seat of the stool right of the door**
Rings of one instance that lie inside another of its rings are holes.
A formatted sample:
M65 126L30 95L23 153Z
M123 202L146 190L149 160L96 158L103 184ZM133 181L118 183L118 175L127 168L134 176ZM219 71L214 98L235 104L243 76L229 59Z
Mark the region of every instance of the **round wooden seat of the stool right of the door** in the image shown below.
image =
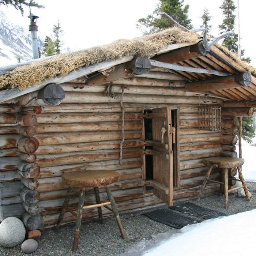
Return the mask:
M244 163L243 158L212 157L203 159L205 165L217 165L218 168L234 168Z

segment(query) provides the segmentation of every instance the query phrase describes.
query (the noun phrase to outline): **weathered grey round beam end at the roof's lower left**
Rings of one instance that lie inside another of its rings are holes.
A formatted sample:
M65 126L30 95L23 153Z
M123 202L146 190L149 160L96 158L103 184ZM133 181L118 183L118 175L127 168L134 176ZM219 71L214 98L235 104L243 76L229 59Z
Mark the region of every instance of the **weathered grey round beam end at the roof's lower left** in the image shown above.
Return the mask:
M65 98L65 92L58 84L50 83L38 91L37 98L49 105L56 106L60 105Z

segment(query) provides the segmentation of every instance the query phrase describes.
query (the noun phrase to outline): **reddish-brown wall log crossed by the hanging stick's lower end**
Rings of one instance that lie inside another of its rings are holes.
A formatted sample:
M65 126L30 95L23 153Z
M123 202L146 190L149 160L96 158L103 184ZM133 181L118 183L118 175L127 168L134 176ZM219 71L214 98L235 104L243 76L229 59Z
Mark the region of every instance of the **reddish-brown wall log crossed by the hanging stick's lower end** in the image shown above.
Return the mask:
M138 157L143 155L142 149L131 149L123 151L123 158ZM80 153L69 153L59 155L38 155L37 164L40 167L68 165L83 162L102 161L104 159L117 159L120 156L120 150L104 150L102 152L86 151Z

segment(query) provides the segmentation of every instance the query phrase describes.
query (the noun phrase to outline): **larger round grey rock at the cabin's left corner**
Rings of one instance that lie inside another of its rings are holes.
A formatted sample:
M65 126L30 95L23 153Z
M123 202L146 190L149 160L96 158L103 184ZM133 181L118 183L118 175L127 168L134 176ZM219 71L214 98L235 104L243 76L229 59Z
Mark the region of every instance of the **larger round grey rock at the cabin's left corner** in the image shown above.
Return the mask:
M21 244L25 235L23 222L16 217L8 217L0 224L0 244L4 247Z

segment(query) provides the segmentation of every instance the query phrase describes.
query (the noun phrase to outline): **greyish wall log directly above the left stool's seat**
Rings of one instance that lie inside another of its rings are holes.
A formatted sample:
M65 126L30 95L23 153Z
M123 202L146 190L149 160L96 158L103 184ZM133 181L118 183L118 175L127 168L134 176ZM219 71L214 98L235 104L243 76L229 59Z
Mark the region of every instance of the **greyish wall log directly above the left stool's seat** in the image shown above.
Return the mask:
M79 172L83 170L123 170L127 168L138 168L142 166L142 158L124 158L120 165L119 159L97 161L91 163L82 163L76 165L61 165L42 167L40 169L40 178L57 177L61 176L65 172ZM123 179L121 175L118 180ZM125 178L124 178L125 179Z

